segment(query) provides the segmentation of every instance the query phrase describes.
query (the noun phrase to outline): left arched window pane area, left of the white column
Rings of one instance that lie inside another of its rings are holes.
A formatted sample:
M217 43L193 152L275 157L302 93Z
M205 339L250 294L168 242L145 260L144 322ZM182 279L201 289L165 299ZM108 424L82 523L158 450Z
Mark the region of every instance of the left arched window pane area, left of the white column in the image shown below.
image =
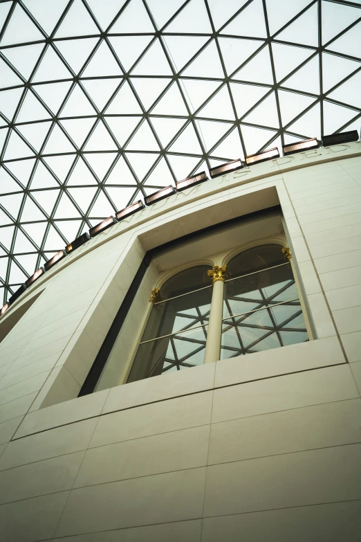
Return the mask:
M203 363L212 299L208 269L185 269L160 288L128 382Z

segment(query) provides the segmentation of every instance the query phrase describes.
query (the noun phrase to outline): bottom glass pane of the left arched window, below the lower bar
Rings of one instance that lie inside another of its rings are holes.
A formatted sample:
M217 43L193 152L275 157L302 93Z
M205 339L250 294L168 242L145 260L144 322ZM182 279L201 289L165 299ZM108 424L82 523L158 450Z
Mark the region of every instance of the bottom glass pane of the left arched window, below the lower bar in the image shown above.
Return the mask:
M140 344L128 382L202 365L206 338L205 325Z

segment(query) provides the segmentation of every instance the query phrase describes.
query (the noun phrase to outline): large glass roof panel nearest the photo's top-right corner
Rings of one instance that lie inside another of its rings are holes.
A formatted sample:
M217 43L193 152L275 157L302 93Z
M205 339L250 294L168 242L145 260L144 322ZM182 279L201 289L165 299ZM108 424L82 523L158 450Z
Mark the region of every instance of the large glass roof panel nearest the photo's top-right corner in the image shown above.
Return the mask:
M361 17L360 9L339 3L322 1L322 45L329 42L356 19Z

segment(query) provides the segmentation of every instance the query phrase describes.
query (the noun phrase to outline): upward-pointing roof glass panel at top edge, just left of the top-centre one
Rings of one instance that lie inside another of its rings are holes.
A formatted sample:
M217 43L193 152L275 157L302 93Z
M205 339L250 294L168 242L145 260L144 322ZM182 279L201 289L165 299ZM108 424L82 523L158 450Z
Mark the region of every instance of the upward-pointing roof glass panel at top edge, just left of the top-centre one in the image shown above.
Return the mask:
M154 26L151 24L142 0L131 0L109 32L111 34L154 32Z

